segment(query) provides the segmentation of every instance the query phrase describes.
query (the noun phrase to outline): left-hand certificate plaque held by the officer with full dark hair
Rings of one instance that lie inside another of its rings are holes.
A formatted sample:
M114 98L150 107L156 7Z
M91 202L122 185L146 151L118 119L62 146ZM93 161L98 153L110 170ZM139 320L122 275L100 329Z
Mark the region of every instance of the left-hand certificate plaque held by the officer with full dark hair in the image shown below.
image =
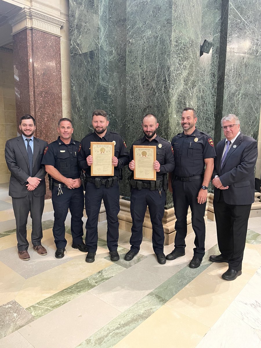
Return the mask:
M91 176L113 176L114 166L114 143L90 142L90 154L93 157L93 164L90 167Z

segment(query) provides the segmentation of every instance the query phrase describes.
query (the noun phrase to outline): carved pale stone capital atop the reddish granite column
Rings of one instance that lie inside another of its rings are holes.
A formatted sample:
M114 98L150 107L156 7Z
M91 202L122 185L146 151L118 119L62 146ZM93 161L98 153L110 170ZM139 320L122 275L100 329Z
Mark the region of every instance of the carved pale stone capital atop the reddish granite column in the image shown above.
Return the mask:
M37 29L61 37L60 29L65 21L32 7L24 7L14 17L9 18L9 23L13 27L12 35L28 28Z

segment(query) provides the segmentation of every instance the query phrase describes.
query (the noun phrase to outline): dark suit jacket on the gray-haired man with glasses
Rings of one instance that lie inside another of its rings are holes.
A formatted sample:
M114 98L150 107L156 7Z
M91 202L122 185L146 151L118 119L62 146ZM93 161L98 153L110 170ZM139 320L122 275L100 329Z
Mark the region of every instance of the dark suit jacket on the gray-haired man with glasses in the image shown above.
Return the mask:
M224 163L221 167L222 155L226 139L216 145L216 158L214 160L215 175L224 187L225 203L234 205L247 205L254 202L255 180L254 167L258 157L258 143L250 136L240 133L229 149ZM214 200L218 201L220 189L214 189Z

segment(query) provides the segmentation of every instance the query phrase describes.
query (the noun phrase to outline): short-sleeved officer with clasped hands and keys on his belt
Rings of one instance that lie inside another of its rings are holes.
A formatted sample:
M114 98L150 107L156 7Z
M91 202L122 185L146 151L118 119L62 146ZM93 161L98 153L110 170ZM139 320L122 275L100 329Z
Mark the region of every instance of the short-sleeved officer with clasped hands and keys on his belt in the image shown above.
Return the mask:
M61 118L58 122L58 139L48 145L44 151L42 164L46 172L53 178L52 202L54 207L54 241L56 244L55 257L64 257L65 239L64 222L71 213L72 247L87 252L82 241L82 216L84 210L84 191L81 186L78 153L80 143L72 139L72 121Z

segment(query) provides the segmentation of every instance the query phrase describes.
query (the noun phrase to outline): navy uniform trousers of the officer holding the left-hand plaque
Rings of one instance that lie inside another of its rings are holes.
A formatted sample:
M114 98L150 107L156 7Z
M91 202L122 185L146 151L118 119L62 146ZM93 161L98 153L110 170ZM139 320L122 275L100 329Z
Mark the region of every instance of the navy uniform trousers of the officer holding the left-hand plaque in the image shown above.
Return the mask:
M102 199L106 209L107 246L109 251L116 251L118 248L118 214L120 211L119 183L114 182L113 186L107 188L105 185L101 185L100 188L97 188L95 184L87 182L85 191L85 209L87 215L85 244L88 247L88 251L91 253L95 253L97 250L98 218Z

